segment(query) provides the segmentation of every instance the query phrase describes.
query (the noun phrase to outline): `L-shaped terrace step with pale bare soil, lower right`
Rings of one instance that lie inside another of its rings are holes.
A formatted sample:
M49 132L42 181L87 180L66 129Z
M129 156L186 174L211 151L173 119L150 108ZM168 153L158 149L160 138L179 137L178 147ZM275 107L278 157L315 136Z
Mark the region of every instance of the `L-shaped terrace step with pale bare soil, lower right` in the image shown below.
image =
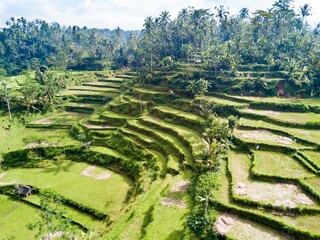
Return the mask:
M241 205L262 207L266 210L283 211L281 206L286 206L289 212L320 213L319 205L305 195L299 186L292 183L274 181L266 182L250 177L250 156L241 152L230 151L228 156L228 171L231 175L231 196ZM286 194L284 195L283 192ZM295 198L303 195L304 201ZM307 194L307 193L306 193ZM288 202L287 200L290 199Z

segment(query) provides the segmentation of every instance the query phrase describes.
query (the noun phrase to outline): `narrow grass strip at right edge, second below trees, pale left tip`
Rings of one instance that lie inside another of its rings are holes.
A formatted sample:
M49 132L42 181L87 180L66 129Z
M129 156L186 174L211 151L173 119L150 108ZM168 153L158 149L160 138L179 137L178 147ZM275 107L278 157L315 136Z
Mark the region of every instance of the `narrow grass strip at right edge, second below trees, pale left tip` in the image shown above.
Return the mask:
M256 110L256 109L243 109L241 110L247 113L253 113L260 116L266 116L270 119L294 124L306 124L307 122L320 122L320 114L308 112L308 113L297 113L297 112L278 112L269 110Z

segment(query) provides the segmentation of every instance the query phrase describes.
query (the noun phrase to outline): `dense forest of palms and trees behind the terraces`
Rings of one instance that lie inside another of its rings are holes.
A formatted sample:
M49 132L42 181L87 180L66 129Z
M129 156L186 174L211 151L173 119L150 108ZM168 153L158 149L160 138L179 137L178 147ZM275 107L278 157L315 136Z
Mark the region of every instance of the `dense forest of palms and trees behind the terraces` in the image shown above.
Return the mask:
M148 71L174 62L201 61L215 72L236 74L243 64L268 64L284 71L296 85L316 94L320 88L320 23L311 28L308 4L298 11L293 0L278 0L269 9L237 15L224 6L167 11L147 17L139 31L117 28L62 27L42 20L11 18L0 32L1 72L17 74L46 65L52 69L99 70L145 67Z

